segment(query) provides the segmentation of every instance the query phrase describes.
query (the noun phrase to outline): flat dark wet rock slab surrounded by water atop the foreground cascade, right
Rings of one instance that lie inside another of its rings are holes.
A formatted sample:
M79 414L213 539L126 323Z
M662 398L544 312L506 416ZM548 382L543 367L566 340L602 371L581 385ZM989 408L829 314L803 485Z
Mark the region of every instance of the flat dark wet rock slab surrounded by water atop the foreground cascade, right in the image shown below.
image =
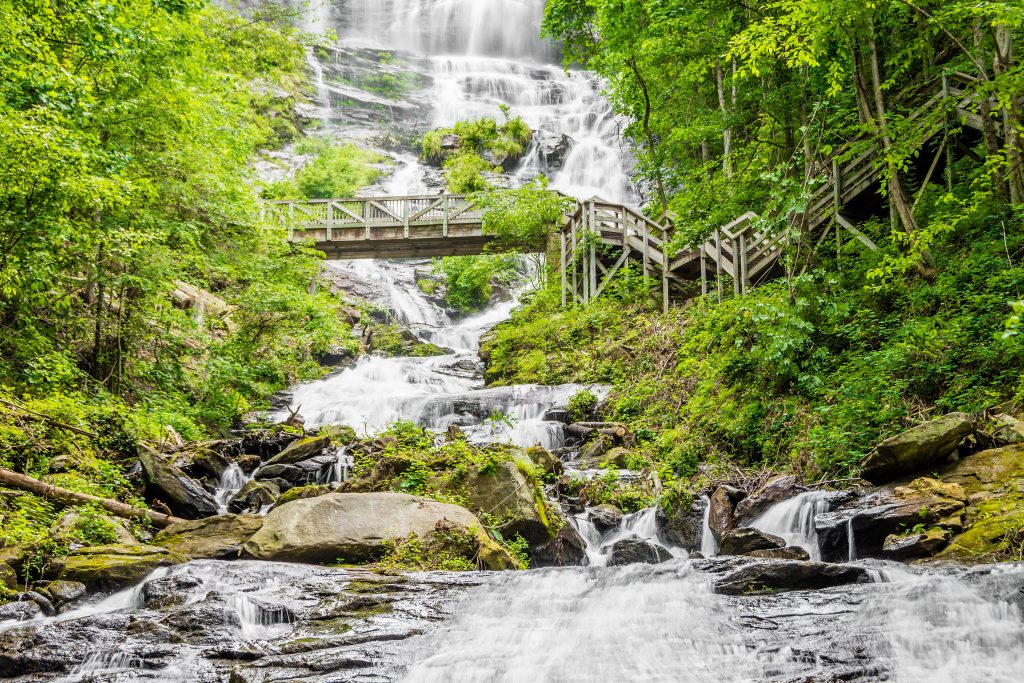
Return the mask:
M697 560L695 564L699 566L707 561ZM757 560L718 579L715 592L750 595L867 583L870 583L870 578L863 567L797 560Z

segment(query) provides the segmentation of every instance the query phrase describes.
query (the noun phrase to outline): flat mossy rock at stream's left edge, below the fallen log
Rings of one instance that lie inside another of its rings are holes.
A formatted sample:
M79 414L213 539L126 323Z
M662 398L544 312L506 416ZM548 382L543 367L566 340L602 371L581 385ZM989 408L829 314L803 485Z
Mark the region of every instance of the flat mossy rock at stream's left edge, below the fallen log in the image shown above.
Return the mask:
M188 558L156 546L92 546L72 551L60 560L61 581L77 581L100 589L136 584L154 569L187 562Z

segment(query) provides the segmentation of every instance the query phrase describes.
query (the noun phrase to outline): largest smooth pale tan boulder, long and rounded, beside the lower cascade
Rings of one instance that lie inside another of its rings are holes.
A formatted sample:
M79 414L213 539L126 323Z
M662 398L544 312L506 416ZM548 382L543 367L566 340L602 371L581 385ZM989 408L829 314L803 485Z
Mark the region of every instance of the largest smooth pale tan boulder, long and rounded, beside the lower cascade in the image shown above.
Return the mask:
M292 501L270 511L263 527L245 545L245 554L286 562L362 562L384 552L387 541L415 533L429 538L438 524L472 531L487 568L515 561L483 532L465 508L406 494L328 494Z

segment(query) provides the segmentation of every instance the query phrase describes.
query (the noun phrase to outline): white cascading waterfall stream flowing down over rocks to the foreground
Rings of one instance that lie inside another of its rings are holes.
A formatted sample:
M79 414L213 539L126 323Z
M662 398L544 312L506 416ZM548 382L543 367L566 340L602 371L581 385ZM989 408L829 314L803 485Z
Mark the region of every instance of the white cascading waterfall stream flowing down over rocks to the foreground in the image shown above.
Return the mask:
M312 4L309 28L334 29L339 36L338 48L315 65L327 134L369 139L404 126L425 130L500 116L499 104L505 103L540 131L508 174L510 182L545 172L555 187L577 197L636 201L629 153L618 136L622 122L600 96L600 83L562 69L557 50L537 38L542 0ZM381 54L392 51L423 84L408 102L389 103L351 84L353 74L379 68ZM559 144L562 153L553 154ZM436 189L436 172L422 166L414 151L390 154L394 166L377 190ZM552 411L583 387L483 385L480 336L509 316L515 298L454 319L416 286L416 268L424 265L348 261L329 267L362 283L419 339L450 353L365 356L293 387L286 402L301 407L308 428L343 423L373 434L411 420L438 432L459 425L479 442L566 446L563 423ZM524 280L528 268L524 264ZM488 421L496 413L509 419ZM282 408L275 417L287 414ZM587 475L574 468L571 449L562 456L570 474ZM329 463L321 480L345 479L345 458L341 453ZM221 512L248 480L236 466L225 471L215 493ZM587 511L571 516L586 544L586 566L394 577L257 561L161 568L137 586L92 596L56 616L0 622L0 679L1021 680L1024 565L924 569L861 560L851 566L862 568L869 582L725 595L717 582L734 564L716 557L710 505L701 509L696 548L703 557L666 538L656 511L648 509L603 530ZM751 525L820 559L815 518L825 511L821 496L807 493L772 506ZM609 566L611 546L630 540L657 544L670 557L658 564ZM357 622L346 621L353 615Z

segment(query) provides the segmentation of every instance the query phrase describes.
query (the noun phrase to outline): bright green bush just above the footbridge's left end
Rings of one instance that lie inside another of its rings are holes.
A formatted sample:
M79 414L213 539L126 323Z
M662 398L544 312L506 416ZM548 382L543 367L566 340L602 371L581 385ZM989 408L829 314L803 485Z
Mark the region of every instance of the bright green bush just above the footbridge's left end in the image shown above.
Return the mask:
M380 176L380 155L354 144L335 144L321 137L306 138L296 152L312 157L293 178L267 187L267 199L344 199Z

